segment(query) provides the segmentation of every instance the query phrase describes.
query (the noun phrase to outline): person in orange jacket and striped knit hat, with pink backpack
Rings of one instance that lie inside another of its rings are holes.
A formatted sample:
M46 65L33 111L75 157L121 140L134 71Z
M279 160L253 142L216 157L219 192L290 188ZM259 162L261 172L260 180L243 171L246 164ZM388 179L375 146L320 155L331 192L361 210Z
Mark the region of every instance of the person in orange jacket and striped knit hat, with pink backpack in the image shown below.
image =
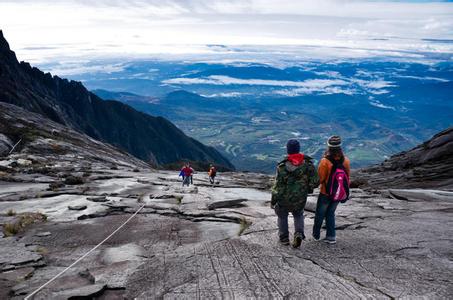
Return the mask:
M321 226L326 219L326 237L329 244L336 243L335 210L338 203L346 202L349 198L349 176L351 173L349 159L341 149L341 138L337 135L327 140L327 150L319 162L318 174L320 193L316 204L313 238L321 237Z

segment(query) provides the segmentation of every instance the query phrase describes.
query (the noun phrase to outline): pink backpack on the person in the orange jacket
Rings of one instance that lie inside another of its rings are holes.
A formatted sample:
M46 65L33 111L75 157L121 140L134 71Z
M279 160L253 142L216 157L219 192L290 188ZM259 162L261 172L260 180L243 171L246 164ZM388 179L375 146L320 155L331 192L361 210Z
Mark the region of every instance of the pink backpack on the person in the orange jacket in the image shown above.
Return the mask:
M327 181L326 190L332 201L346 202L349 199L349 176L343 161L331 161L333 164Z

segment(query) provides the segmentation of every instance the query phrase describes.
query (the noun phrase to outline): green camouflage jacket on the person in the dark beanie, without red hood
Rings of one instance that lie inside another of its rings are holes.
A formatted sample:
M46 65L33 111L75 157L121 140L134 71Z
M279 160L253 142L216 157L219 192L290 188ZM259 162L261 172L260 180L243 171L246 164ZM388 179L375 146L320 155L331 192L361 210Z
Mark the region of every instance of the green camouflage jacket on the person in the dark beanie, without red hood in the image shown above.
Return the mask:
M285 159L277 166L271 203L289 211L304 209L308 194L318 185L319 177L311 157L305 156L299 166Z

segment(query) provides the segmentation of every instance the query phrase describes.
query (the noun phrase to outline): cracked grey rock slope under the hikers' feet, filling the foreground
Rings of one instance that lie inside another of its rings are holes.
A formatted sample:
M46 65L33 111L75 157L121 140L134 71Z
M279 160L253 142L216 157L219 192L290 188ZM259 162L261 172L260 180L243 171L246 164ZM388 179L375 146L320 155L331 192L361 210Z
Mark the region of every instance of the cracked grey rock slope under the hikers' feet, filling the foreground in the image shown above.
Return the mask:
M316 206L311 195L307 240L292 249L278 243L268 176L247 174L253 184L244 187L239 173L220 173L216 186L196 174L195 186L182 188L177 172L92 165L80 186L50 192L49 182L58 178L43 184L28 174L16 176L23 180L0 183L0 212L40 211L48 220L0 239L3 298L31 293L142 205L37 299L445 299L453 291L450 192L353 189L352 199L337 210L336 245L310 237ZM72 211L68 205L87 208ZM2 223L8 218L2 216Z

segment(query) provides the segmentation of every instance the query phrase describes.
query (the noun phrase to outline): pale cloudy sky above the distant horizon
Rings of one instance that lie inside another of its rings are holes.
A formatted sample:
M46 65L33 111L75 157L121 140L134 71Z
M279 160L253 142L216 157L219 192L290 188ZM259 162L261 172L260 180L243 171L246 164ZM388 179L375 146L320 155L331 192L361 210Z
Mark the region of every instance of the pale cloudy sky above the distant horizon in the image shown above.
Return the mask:
M207 44L453 53L445 41L453 40L451 1L2 0L0 20L19 57L32 62L205 55L214 51Z

